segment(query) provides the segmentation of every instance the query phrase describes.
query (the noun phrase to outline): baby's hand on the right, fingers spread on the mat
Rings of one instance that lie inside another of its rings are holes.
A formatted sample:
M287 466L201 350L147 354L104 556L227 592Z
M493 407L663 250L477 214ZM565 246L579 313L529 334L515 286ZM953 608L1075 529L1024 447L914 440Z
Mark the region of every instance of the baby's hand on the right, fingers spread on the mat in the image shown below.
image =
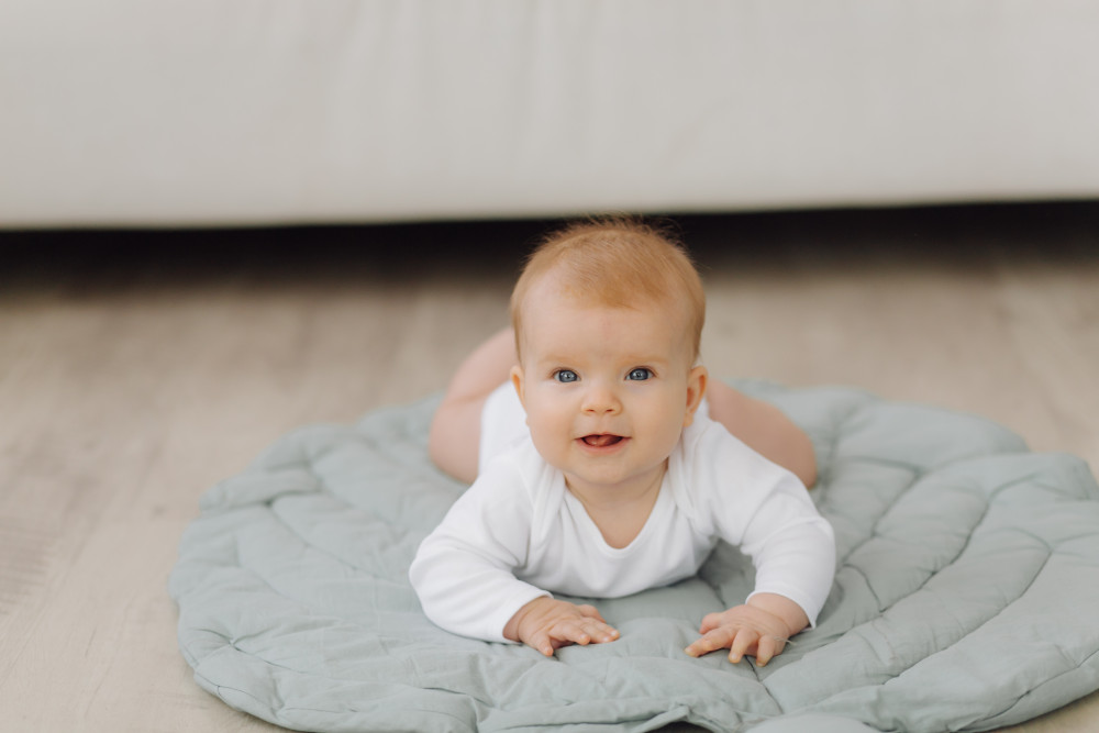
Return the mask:
M777 595L761 593L759 602L737 606L702 619L702 637L685 651L699 657L714 649L729 649L729 660L740 662L745 654L765 666L786 648L790 636L808 625L804 612L793 601Z

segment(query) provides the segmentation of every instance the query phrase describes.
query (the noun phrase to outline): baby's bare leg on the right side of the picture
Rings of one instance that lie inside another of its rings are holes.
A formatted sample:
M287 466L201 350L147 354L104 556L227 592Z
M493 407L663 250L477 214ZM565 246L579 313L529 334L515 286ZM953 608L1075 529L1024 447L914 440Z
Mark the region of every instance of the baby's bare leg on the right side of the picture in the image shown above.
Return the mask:
M791 470L801 482L817 482L817 454L812 441L774 404L748 397L711 379L706 390L710 418L765 458Z

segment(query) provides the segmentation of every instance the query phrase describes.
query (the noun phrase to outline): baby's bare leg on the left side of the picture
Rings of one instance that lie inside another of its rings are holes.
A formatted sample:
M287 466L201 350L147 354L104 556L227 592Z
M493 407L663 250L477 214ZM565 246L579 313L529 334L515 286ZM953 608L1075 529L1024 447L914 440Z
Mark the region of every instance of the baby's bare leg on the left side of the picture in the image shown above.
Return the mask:
M517 363L515 336L500 331L458 367L432 419L428 452L435 465L458 480L477 477L480 419L485 400L511 376Z

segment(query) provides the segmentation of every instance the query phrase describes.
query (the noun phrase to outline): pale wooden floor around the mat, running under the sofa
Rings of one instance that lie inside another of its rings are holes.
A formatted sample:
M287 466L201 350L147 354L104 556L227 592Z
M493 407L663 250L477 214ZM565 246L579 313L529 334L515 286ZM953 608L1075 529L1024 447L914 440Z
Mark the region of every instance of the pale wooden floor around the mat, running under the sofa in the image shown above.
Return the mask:
M679 221L712 374L977 412L1099 466L1096 204ZM277 730L176 647L199 496L292 427L442 389L543 227L0 235L0 726ZM1022 730L1099 730L1099 697Z

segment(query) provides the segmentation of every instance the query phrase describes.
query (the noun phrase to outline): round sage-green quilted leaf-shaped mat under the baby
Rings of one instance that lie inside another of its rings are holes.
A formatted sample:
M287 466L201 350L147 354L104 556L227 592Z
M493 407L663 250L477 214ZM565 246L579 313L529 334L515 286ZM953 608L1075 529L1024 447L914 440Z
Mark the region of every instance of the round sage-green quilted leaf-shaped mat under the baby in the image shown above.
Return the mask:
M682 652L751 564L593 603L619 641L533 649L431 624L407 579L464 490L433 468L437 398L300 429L213 487L169 590L198 684L304 731L955 731L1099 689L1099 487L981 418L842 388L733 382L812 436L836 533L818 626L764 668Z

